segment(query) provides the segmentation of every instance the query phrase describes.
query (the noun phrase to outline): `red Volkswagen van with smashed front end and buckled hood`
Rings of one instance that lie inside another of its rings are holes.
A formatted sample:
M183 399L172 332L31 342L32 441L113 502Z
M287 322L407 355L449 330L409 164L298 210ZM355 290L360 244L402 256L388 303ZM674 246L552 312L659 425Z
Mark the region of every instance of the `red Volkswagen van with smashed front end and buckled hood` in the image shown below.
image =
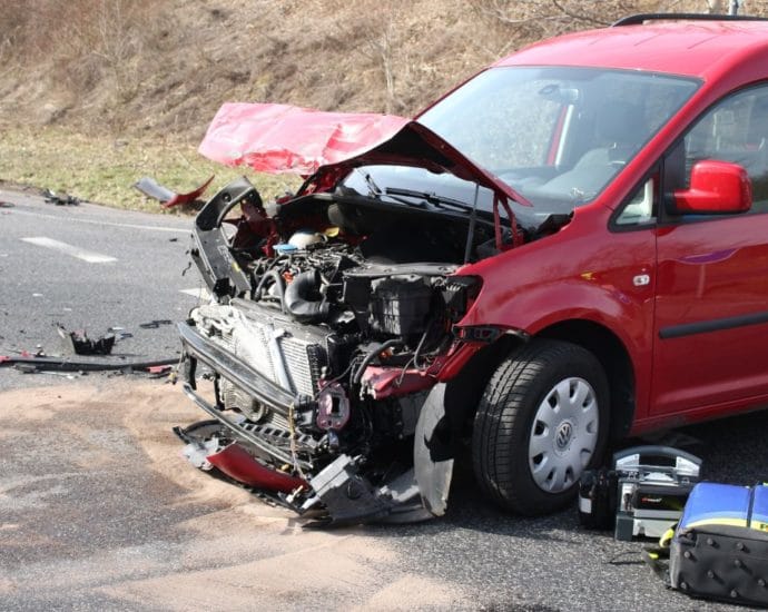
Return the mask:
M412 121L283 110L201 147L306 180L265 201L240 179L195 221L198 467L334 524L410 521L469 446L491 499L539 514L613 440L768 402L768 22L547 40Z

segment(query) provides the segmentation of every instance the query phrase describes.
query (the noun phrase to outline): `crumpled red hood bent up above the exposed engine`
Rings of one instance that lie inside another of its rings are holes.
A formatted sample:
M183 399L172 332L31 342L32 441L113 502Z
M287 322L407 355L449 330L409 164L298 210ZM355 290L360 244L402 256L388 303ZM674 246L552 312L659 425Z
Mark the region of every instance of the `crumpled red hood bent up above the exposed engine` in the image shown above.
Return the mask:
M214 161L259 172L315 175L316 184L368 164L412 165L449 171L530 205L426 127L393 115L229 102L214 117L198 150Z

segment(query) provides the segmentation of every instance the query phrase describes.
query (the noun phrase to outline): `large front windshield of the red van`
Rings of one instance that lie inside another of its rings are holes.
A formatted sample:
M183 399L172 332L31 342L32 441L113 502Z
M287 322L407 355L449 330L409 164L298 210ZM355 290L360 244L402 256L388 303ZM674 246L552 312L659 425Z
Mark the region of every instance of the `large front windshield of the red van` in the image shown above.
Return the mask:
M593 200L699 81L604 68L492 68L419 117L536 209Z

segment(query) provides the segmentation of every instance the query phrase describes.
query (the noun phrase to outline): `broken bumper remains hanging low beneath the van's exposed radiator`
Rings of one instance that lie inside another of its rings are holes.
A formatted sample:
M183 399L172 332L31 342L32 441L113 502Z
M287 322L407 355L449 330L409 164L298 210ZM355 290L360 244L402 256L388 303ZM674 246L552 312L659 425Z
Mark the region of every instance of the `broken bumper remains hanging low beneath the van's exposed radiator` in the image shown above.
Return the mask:
M296 453L317 442L301 434L295 408L312 398L293 394L244 363L226 348L201 335L188 323L178 325L185 353L187 381L184 392L223 431L225 445L197 440L187 430L176 428L187 442L185 454L197 467L218 468L245 486L259 490L280 505L317 519L313 525L338 526L365 522L416 522L442 515L453 468L452 456L441 453L435 430L444 417L444 386L433 388L422 409L415 431L414 467L384 484L374 486L361 470L366 457L338 454L318 468L312 458ZM244 389L289 424L286 432L264 431L238 413L223 411L197 392L198 363ZM247 451L246 451L247 448ZM280 466L276 468L275 466Z

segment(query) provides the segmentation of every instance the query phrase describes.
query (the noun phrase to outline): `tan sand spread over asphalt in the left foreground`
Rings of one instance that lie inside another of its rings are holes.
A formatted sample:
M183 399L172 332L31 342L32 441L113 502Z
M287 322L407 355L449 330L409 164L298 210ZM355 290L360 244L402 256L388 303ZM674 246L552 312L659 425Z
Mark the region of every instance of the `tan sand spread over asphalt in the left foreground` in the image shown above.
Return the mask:
M171 385L98 378L0 394L0 609L470 608L364 529L301 520L195 471Z

